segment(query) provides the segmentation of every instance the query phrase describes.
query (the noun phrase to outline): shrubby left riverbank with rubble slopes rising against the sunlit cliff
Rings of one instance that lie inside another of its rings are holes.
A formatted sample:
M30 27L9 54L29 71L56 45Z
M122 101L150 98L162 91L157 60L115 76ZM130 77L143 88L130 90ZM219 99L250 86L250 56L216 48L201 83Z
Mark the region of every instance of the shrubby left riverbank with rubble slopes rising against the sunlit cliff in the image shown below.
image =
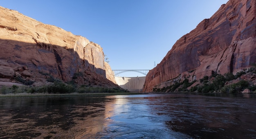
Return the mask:
M47 94L47 95L55 95L55 94L75 94L77 92L79 94L90 94L90 93L127 93L128 90L124 90L123 88L110 84L100 84L99 83L90 83L90 81L85 80L85 73L77 72L74 74L71 81L64 83L62 80L58 78L54 78L49 73L39 72L41 76L46 78L46 81L43 83L35 83L34 81L30 81L24 79L22 76L17 76L14 79L16 83L23 85L12 85L12 86L0 86L0 94L24 94L26 95L34 95L34 94ZM80 78L83 81L76 81ZM87 82L86 82L87 81ZM92 81L91 81L92 82ZM43 84L43 85L42 85ZM6 85L6 84L3 84Z

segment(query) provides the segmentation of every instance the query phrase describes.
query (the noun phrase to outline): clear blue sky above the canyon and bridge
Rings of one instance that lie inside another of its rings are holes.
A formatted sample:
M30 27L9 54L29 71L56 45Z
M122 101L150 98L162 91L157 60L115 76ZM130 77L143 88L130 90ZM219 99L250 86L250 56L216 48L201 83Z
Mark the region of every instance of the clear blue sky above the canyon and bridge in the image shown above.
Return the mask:
M0 6L101 45L112 70L151 70L180 37L227 1L0 0Z

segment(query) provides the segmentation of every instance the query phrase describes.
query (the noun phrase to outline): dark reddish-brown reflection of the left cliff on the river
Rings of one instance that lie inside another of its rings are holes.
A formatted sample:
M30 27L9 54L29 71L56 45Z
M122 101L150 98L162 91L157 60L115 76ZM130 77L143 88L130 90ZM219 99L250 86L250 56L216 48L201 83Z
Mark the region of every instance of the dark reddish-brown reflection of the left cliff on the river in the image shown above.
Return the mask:
M73 138L86 132L96 134L104 119L101 102L104 97L1 98L0 137Z

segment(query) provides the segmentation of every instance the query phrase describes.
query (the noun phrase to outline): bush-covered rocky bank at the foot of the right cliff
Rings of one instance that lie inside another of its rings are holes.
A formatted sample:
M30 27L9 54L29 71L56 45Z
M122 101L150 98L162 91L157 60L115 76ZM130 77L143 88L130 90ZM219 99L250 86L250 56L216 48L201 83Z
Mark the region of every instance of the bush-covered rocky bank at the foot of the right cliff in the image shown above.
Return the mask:
M256 94L256 66L237 72L236 75L217 74L204 76L199 81L189 82L188 78L163 88L153 88L154 92L198 92L198 93L253 93Z

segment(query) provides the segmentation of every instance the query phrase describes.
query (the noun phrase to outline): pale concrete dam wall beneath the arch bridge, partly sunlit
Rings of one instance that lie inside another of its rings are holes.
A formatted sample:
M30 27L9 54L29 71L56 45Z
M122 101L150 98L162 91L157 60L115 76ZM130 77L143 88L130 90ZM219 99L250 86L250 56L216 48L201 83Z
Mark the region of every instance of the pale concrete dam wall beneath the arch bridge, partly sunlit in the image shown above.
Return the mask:
M115 77L116 83L130 92L141 92L145 83L146 76L144 77Z

